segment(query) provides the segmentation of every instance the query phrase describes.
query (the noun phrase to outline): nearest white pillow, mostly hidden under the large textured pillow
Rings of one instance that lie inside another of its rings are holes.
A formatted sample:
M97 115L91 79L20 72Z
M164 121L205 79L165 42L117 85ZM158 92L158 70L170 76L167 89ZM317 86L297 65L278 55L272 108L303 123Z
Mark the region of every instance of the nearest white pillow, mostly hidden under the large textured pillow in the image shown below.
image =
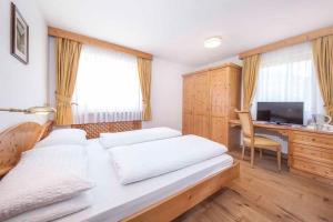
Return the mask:
M77 213L90 206L90 196L83 192L67 201L53 203L40 209L21 213L4 222L47 222L60 219L62 216Z

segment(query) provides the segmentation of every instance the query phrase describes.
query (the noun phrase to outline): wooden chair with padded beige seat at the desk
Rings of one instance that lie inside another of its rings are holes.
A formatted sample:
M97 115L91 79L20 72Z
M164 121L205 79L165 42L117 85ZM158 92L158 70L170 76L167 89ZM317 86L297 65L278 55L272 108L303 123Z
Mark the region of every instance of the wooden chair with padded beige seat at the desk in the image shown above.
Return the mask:
M278 169L281 171L281 144L272 139L254 134L253 121L249 111L235 110L235 112L239 114L243 131L242 160L244 159L245 148L251 149L252 168L254 163L254 148L259 148L260 159L262 158L262 149L275 151L278 153Z

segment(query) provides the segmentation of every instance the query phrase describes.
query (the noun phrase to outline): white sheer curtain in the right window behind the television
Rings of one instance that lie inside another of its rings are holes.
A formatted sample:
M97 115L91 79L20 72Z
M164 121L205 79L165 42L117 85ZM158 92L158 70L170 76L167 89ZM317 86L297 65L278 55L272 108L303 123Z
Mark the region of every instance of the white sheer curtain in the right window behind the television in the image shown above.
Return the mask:
M262 54L253 117L256 102L304 102L304 124L313 113L324 113L311 43Z

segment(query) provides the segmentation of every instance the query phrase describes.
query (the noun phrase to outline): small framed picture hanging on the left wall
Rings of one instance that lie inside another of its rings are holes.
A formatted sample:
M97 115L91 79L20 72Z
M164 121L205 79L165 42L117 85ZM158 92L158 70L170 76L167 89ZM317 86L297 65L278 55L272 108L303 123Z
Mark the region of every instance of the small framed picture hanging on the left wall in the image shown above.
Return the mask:
M14 3L11 3L11 54L28 64L29 26Z

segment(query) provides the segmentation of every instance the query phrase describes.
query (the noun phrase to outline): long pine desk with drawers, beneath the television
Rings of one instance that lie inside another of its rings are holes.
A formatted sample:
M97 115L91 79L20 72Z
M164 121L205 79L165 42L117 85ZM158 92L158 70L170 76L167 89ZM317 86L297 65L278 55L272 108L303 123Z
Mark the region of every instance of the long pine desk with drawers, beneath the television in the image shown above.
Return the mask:
M240 127L239 120L230 120L231 128ZM310 130L253 121L255 129L278 132L287 138L287 162L291 170L333 180L333 132Z

